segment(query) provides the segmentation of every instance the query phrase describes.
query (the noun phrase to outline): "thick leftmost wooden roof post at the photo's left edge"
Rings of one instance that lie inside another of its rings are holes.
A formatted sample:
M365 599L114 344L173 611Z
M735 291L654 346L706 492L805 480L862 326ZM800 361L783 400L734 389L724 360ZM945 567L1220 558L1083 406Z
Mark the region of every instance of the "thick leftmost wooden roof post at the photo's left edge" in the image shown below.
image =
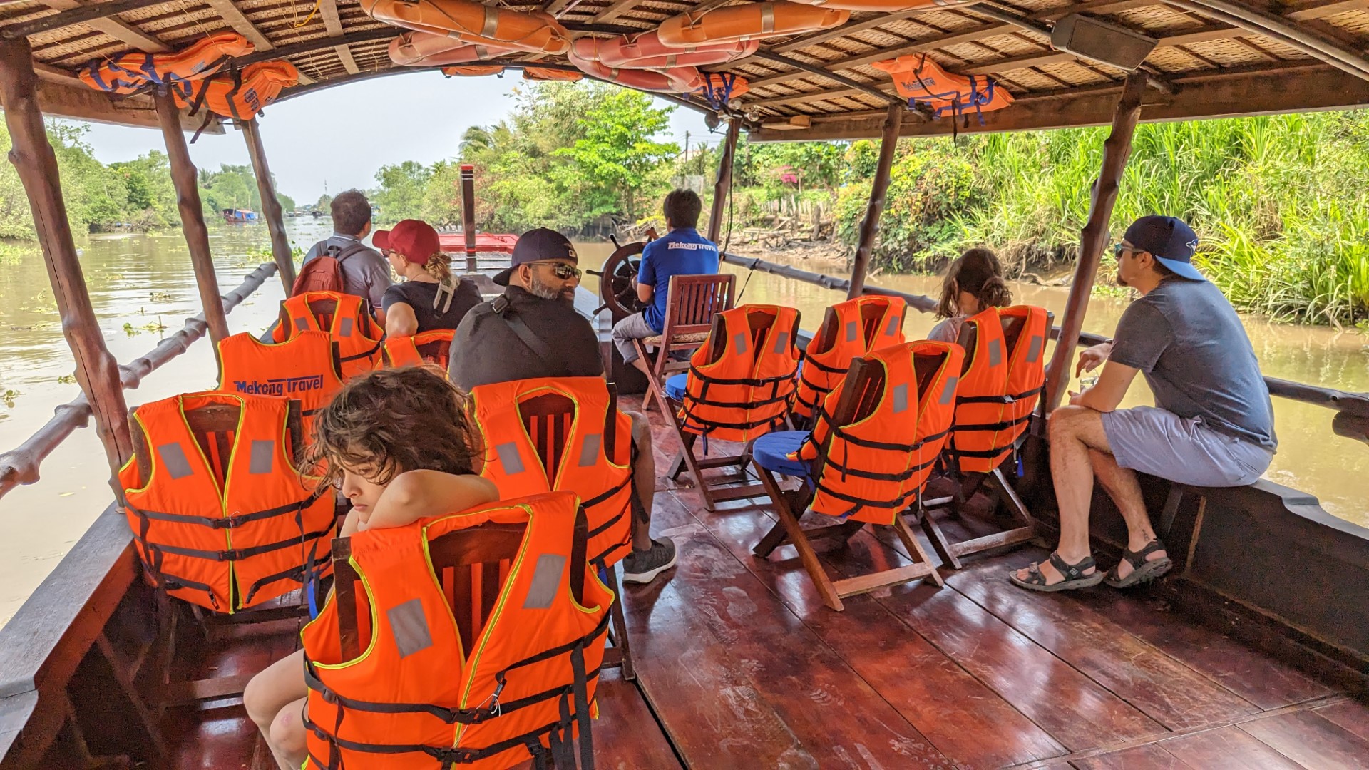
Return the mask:
M33 71L33 49L29 40L0 38L0 103L4 104L5 127L10 129L10 162L19 173L19 182L29 197L33 226L42 247L42 262L48 267L52 296L62 316L62 334L75 359L77 382L90 401L96 434L104 444L110 460L110 485L119 496L115 475L133 456L129 437L129 407L119 382L119 363L104 347L100 322L90 307L85 274L77 258L77 247L67 223L67 207L62 199L57 156L48 144L38 107L38 77Z

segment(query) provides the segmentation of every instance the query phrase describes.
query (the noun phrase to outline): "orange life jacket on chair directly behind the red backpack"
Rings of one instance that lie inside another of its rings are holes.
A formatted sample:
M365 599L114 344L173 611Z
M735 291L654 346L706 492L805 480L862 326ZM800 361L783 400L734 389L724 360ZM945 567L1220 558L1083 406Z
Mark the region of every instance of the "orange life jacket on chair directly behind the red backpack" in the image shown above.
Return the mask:
M367 300L338 292L304 292L281 300L281 323L271 338L283 343L301 330L327 332L338 344L342 380L371 371L381 362L381 330Z

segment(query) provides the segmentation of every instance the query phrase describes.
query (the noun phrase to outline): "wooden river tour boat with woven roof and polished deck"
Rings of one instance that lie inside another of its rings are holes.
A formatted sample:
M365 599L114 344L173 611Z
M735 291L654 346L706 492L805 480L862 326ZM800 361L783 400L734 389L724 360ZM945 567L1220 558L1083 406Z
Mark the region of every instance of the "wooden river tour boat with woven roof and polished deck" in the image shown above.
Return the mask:
M84 393L40 433L0 455L0 493L37 481L42 459L90 417L110 467L82 470L92 477L112 473L130 452L125 389L200 337L225 336L235 306L272 275L289 288L294 270L279 211L267 211L274 262L220 292L204 222L197 221L200 207L185 206L197 193L183 132L222 130L222 121L211 116L205 123L155 92L118 103L96 97L68 69L67 52L79 48L92 27L107 41L101 55L116 56L163 45L157 19L182 11L162 0L51 5L64 10L38 15L25 4L0 8L0 101L11 158L42 223L38 236L63 326L85 369ZM654 27L680 7L706 16L717 3L661 5L552 0L539 8L570 33L619 36ZM752 141L880 141L850 275L724 256L746 270L824 286L834 300L891 293L867 282L867 269L898 137L1110 126L1068 310L1053 329L1049 410L1060 400L1076 347L1098 341L1082 333L1083 316L1138 121L1369 105L1369 59L1358 38L1369 27L1369 12L1340 0L1279 8L1236 0L1003 8L910 4L865 12L832 29L765 37L752 58L704 67L742 74L747 93L661 97L727 126L711 216L715 241L743 126ZM356 66L353 52L383 51L401 30L337 11L326 1L320 15L330 33L308 40L275 23L277 11L268 5L222 0L199 14L214 26L252 30L248 37L260 38L256 53L231 66L268 58L303 64L300 84L281 100L424 70L390 67L374 56ZM1005 48L995 41L1009 42ZM965 111L954 121L916 104L909 110L893 84L867 64L914 51L930 52L951 74L991 78L1013 103L982 115ZM524 58L490 63L528 66ZM535 66L571 67L560 53L539 55ZM208 301L203 316L122 367L105 348L84 290L45 115L162 127L167 140L190 260ZM270 121L270 114L261 119ZM261 199L275 200L257 118L238 126ZM470 273L487 274L498 259L479 258L474 200L467 206L465 232L444 245L467 252ZM642 247L623 244L602 266L596 297L604 306L601 330L613 315L632 310L623 288ZM932 306L923 296L904 299L924 312ZM611 378L631 393L622 362L615 362ZM1268 385L1276 403L1321 407L1328 437L1369 443L1369 395L1273 378ZM669 469L674 447L660 414L652 419L657 467ZM1010 489L1049 543L1055 519L1042 415L1032 421L1021 460ZM1233 489L1184 488L1150 477L1142 484L1177 562L1170 575L1146 589L1027 595L1002 575L1046 551L1039 543L1005 544L967 558L961 569L942 563L945 586L914 581L850 597L836 612L823 606L791 552L752 555L773 523L764 500L737 499L705 511L697 488L665 473L653 523L675 538L680 563L668 580L627 586L620 595L627 625L620 641L630 643L634 667L605 669L600 677L594 765L1365 767L1369 530L1329 515L1314 496L1269 480ZM990 504L945 526L956 537L993 537L999 529L993 515ZM1103 562L1114 559L1125 538L1102 493L1095 495L1091 521L1095 551ZM816 559L819 569L843 575L906 564L910 554L899 541L861 532ZM241 692L248 677L296 648L304 604L287 595L222 617L170 600L145 580L129 526L111 501L0 629L0 769L271 767Z

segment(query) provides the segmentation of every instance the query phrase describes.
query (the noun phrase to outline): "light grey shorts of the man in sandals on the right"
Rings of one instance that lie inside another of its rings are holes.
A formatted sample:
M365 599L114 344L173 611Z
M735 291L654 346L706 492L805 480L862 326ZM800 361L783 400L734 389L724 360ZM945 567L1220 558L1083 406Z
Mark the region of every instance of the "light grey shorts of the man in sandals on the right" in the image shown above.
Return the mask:
M1102 418L1117 464L1180 484L1244 486L1259 478L1275 456L1259 444L1207 427L1201 417L1132 407Z

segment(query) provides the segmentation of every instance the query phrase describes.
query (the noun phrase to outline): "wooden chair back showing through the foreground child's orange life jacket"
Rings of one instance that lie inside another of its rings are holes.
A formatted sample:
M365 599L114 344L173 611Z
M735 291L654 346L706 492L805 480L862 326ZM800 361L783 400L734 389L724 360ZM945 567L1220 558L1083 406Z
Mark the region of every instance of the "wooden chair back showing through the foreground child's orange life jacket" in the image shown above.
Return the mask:
M500 589L508 580L513 559L523 547L527 526L522 523L485 523L470 529L450 532L428 541L428 558L433 574L442 595L446 597L456 629L461 636L461 648L470 652L485 630ZM589 527L585 511L575 518L575 538L571 547L571 563L585 563L585 549ZM338 641L342 658L352 660L361 654L361 640L370 638L370 612L366 596L357 596L356 584L360 577L348 559L352 558L352 538L338 537L333 541L333 581L338 606ZM531 563L537 555L530 554ZM585 600L585 570L571 570L571 596ZM361 612L360 610L364 610ZM364 633L363 633L364 632Z

